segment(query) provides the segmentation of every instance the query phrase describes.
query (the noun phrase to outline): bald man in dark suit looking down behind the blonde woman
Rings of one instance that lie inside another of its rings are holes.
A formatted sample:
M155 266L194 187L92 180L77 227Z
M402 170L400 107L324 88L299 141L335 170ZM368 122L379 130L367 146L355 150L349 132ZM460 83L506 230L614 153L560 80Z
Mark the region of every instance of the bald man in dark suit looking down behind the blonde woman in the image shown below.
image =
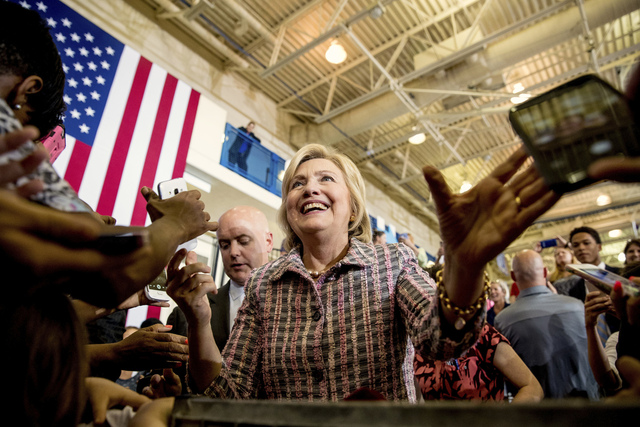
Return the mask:
M208 294L211 305L211 329L220 351L229 339L238 308L244 300L244 284L254 268L267 263L273 249L273 235L267 217L251 206L236 206L218 219L218 245L224 272L229 281L215 295ZM187 319L176 307L168 325L172 333L187 336Z

